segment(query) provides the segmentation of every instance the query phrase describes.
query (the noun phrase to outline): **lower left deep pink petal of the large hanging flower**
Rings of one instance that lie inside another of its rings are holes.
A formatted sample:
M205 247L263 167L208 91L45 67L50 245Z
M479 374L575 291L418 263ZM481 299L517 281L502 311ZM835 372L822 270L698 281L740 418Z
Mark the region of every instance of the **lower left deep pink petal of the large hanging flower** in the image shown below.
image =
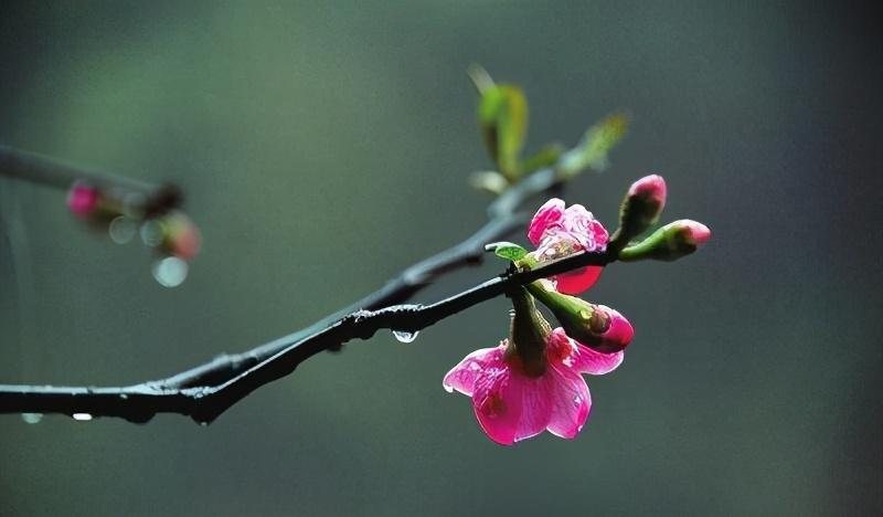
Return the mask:
M512 381L509 368L482 370L475 383L472 409L485 433L500 445L511 445L519 432L523 383Z

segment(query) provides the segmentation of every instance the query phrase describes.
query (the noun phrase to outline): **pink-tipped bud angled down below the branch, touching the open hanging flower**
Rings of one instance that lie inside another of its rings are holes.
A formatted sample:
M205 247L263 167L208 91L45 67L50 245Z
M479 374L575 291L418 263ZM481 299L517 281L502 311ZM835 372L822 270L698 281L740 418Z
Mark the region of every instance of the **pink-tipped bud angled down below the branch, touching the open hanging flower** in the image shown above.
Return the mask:
M545 288L539 282L528 289L552 310L572 339L603 354L617 352L631 342L635 330L618 312Z

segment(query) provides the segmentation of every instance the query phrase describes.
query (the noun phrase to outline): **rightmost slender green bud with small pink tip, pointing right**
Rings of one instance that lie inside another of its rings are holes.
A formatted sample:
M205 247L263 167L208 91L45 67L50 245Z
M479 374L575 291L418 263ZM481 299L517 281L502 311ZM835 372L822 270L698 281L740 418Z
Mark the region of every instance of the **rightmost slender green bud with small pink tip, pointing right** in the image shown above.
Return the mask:
M682 219L666 224L639 244L626 247L619 253L620 261L675 261L687 256L711 239L711 230L702 223Z

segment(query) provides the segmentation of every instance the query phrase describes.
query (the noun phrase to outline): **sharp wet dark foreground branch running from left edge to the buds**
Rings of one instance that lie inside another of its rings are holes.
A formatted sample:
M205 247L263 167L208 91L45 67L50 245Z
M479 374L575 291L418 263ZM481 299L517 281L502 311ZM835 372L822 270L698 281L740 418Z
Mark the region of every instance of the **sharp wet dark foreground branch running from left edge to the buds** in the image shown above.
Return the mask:
M524 285L586 265L606 265L610 255L582 252L530 272L507 273L430 305L395 305L357 310L216 386L174 388L169 381L125 388L64 388L0 386L0 412L63 413L119 416L146 422L156 413L179 413L208 423L264 384L291 373L298 365L323 350L339 349L352 339L368 339L377 330L416 333L481 302ZM174 378L172 378L174 379Z

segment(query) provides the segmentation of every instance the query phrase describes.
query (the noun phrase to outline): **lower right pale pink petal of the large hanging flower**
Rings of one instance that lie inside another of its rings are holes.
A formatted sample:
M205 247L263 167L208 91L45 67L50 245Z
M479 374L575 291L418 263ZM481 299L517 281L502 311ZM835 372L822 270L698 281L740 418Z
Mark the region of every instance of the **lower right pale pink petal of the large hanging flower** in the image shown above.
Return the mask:
M549 378L549 402L552 405L546 429L556 436L573 439L585 425L592 410L588 386L578 373L556 365L552 365L544 377Z

